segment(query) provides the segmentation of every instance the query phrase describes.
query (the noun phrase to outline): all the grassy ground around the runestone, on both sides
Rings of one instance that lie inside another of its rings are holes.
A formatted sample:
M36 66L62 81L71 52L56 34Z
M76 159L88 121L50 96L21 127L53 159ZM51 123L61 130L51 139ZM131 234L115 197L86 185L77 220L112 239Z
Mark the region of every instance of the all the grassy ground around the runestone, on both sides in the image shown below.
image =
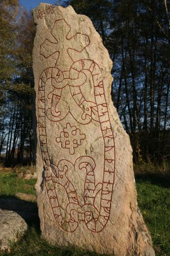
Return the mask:
M13 172L0 172L1 198L15 198L16 193L35 195L35 180L18 179ZM164 177L138 175L136 177L138 205L153 239L157 256L170 256L170 189L169 180ZM30 203L35 204L35 203ZM27 221L29 230L24 238L11 247L11 252L0 252L1 256L91 256L94 252L84 252L80 248L50 246L40 237L38 217Z

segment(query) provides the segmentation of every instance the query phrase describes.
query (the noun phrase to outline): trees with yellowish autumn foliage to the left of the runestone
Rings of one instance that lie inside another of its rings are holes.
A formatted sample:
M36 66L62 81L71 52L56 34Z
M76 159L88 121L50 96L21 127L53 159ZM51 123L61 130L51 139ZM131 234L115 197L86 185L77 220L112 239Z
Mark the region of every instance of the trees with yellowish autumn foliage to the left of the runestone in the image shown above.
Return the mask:
M3 0L0 7L0 155L5 154L5 164L11 165L22 163L25 148L32 159L35 28L31 13L22 11L18 1Z

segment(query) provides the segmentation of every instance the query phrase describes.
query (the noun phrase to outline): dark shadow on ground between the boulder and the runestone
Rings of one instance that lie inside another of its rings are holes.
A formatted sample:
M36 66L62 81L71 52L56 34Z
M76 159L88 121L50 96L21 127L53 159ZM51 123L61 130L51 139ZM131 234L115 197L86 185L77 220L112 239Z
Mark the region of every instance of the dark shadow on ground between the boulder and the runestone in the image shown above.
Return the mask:
M29 227L39 230L38 206L36 202L27 202L17 196L0 195L0 209L17 212Z

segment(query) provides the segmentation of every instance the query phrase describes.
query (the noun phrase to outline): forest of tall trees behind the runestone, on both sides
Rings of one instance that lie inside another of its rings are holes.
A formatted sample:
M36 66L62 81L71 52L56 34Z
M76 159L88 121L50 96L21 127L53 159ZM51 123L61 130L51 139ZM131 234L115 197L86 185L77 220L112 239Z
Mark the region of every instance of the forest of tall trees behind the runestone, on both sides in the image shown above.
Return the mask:
M56 4L60 4L59 1ZM134 163L170 159L170 22L166 0L69 0L90 17L113 61L111 87ZM35 163L32 48L36 26L18 0L0 0L0 159Z

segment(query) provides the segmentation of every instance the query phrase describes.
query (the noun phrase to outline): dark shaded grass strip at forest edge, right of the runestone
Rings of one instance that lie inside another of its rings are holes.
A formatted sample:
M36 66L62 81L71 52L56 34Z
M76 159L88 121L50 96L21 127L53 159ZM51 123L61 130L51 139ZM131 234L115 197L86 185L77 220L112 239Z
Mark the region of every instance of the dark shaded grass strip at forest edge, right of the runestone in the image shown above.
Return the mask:
M164 175L162 173L135 173L137 182L148 182L163 188L170 188L170 173Z

